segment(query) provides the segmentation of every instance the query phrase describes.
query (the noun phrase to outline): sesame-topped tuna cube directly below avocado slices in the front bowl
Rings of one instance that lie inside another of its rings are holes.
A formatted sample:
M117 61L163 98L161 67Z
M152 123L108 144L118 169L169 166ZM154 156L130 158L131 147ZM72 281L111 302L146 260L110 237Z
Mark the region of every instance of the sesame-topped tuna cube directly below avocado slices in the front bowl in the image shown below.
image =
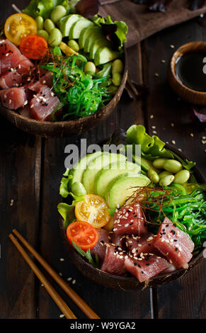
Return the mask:
M114 214L114 229L117 235L147 234L147 221L139 203L122 206Z

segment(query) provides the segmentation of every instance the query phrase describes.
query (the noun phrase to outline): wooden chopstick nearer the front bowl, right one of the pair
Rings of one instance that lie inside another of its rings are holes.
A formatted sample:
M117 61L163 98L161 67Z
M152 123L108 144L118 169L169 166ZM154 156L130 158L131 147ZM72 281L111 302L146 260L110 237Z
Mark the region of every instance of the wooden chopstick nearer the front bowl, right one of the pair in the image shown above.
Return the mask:
M21 242L28 249L28 251L33 254L35 259L40 262L42 267L50 274L50 276L52 276L52 278L54 278L54 280L59 284L59 286L65 291L65 293L67 293L67 295L69 295L71 300L74 301L74 303L81 309L82 312L84 312L84 314L88 318L100 319L100 317L98 317L98 315L96 315L96 313L91 309L91 307L89 307L84 302L84 300L82 300L82 298L77 295L77 293L71 287L69 287L66 282L64 282L64 280L59 276L59 274L57 274L54 269L52 269L52 267L47 264L45 259L43 259L42 256L40 256L40 254L36 252L36 250L25 240L25 238L23 238L23 236L17 230L14 229L13 233L14 235L16 235L16 237L18 237L19 240L21 240Z

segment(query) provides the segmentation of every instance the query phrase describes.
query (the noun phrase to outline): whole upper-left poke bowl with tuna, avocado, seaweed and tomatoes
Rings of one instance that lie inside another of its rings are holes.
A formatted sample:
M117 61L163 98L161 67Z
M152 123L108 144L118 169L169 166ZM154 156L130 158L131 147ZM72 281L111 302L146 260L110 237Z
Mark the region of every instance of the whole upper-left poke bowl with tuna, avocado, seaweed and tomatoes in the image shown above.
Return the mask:
M29 4L1 28L0 113L32 135L80 135L120 101L127 26L110 16L86 16L70 1L49 12L36 2L35 10Z

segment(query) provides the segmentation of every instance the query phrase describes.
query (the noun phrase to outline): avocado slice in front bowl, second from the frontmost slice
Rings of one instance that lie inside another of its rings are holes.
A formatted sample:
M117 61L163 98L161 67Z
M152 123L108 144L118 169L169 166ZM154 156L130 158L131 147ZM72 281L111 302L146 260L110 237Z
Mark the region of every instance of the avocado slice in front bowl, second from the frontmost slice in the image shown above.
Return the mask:
M109 169L101 169L96 174L94 180L94 193L98 194L98 196L103 196L105 194L106 188L110 181L112 181L116 176L120 174L125 174L125 172L130 171L134 172L134 174L139 174L141 171L140 166L132 163L132 162L118 162L114 164L110 164Z

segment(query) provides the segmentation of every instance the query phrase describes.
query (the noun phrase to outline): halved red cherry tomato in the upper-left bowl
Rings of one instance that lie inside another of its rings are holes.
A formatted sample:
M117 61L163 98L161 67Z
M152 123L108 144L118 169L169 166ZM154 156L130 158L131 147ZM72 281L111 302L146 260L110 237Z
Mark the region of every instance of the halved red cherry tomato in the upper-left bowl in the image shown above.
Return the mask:
M48 52L48 45L45 38L38 35L28 35L20 43L20 50L29 59L40 60Z

